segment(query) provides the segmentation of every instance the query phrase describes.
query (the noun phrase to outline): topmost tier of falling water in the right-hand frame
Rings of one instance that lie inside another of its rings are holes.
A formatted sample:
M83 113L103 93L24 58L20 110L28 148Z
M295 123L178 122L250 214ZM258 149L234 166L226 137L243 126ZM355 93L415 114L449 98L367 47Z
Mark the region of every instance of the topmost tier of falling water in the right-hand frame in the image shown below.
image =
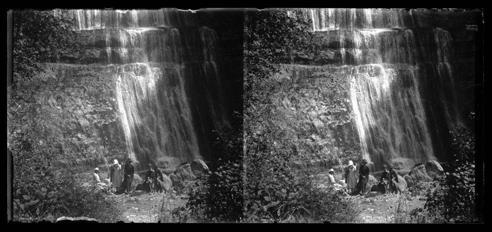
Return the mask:
M312 31L354 28L429 27L429 16L405 9L317 8L288 10L290 17L311 20Z

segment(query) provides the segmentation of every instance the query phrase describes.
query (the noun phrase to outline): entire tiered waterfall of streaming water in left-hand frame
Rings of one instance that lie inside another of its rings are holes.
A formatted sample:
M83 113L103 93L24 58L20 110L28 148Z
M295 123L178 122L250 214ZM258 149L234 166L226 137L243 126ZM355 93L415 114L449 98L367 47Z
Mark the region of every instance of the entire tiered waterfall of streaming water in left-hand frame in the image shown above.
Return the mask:
M229 125L214 30L177 10L62 14L76 20L75 30L92 36L100 63L114 67L129 157L141 162L208 159L210 142L204 137Z

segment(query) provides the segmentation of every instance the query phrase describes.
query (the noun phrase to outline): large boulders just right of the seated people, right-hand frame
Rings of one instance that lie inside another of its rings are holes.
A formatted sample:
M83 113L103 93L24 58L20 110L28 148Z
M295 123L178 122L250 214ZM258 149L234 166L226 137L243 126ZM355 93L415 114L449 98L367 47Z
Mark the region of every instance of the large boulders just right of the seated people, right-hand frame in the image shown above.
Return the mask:
M406 174L403 179L407 183L408 187L412 187L419 182L429 182L434 178L443 175L444 170L441 165L435 161L430 160L425 164L421 164Z

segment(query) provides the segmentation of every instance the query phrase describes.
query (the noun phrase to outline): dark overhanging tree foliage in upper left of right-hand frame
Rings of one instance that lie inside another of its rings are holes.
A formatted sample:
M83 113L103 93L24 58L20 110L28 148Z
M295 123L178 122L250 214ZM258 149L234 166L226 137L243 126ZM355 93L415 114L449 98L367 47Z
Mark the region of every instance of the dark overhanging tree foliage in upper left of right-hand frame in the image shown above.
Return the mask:
M314 50L307 32L309 24L288 17L284 11L262 10L246 14L245 87L247 100L255 88L263 88L262 80L279 71L280 63L294 58L310 57ZM250 102L245 101L246 107Z

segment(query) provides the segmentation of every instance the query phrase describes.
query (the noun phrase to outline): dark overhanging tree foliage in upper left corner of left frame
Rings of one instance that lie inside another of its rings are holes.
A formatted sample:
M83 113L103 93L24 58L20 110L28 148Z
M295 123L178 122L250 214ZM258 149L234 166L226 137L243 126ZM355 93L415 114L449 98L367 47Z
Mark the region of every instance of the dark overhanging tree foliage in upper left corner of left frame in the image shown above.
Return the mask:
M72 30L74 20L53 11L15 11L13 22L14 99L35 85L30 79L42 71L40 62L82 57L87 48L87 38Z

